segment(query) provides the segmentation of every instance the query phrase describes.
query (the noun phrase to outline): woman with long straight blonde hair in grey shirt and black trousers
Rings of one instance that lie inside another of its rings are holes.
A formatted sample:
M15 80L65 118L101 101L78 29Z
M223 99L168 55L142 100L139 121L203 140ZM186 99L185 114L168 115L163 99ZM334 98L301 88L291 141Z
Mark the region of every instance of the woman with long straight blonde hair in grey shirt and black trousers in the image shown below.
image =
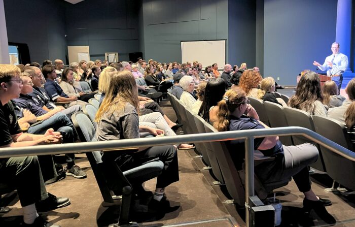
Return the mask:
M139 132L149 132L148 128L139 128L138 114L138 92L132 73L129 71L112 73L111 86L96 114L97 139L99 141L137 139ZM161 134L162 132L156 130L155 133ZM140 147L138 151L116 153L117 157L108 154L112 152L105 152L102 160L105 162L105 160L114 159L120 169L126 171L140 166L147 160L159 157L159 160L164 163L164 168L157 178L151 203L162 208L164 204L160 201L164 196L165 187L179 180L176 148L172 145ZM140 191L144 190L141 185L134 185L133 189L137 190L136 188L140 188ZM134 193L139 194L139 191Z

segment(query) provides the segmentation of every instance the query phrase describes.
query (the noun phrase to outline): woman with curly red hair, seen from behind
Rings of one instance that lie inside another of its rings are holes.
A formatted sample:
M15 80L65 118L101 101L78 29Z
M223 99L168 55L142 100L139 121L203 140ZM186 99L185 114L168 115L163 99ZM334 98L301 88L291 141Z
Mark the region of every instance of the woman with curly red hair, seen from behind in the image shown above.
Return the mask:
M240 77L239 87L247 96L258 99L258 86L262 79L258 71L245 70Z

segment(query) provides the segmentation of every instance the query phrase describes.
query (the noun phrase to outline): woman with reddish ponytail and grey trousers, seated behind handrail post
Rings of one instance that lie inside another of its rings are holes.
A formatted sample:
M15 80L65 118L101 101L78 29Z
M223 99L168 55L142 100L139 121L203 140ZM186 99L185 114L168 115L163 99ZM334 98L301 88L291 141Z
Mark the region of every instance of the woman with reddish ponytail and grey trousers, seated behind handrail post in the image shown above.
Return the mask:
M259 121L258 114L249 104L245 92L239 88L228 90L222 101L218 103L218 108L218 120L214 126L220 132L268 128ZM306 143L298 146L284 146L277 136L255 138L254 144L254 158L264 160L255 167L255 174L263 184L293 177L298 189L305 196L303 200L305 209L316 211L323 209L324 211L323 206L331 204L329 200L319 199L311 189L308 165L318 158L318 150L314 145ZM228 141L227 147L236 168L241 170L244 140Z

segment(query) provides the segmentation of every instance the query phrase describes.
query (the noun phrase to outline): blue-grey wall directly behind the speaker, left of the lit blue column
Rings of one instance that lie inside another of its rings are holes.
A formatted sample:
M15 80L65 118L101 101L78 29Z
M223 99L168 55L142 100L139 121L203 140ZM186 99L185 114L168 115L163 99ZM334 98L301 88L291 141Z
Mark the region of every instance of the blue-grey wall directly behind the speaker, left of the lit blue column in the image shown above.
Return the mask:
M315 70L312 62L331 54L337 0L265 0L264 9L263 76L296 85L302 70Z

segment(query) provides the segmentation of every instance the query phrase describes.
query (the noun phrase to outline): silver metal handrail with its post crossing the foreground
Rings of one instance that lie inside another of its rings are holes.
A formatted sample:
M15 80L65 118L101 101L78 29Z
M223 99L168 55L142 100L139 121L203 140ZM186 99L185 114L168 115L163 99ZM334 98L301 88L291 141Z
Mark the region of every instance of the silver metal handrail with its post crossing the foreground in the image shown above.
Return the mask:
M99 142L84 142L84 143L69 143L69 144L55 144L42 145L31 147L16 147L16 148L0 148L0 158L4 157L18 157L28 155L45 155L45 154L64 154L73 152L87 152L95 150L115 150L126 149L133 147L150 147L169 144L181 143L200 143L213 141L228 141L228 140L245 140L245 222L248 226L248 199L254 196L254 138L268 137L268 136L295 136L300 135L308 138L311 141L322 145L335 153L355 161L355 153L334 143L333 141L303 127L276 127L276 128L262 128L250 129L241 131L219 132L219 133L203 133L203 134L189 134L173 137L155 137L155 138L140 138L140 139L125 139L113 141L99 141ZM119 150L117 151L119 152Z

